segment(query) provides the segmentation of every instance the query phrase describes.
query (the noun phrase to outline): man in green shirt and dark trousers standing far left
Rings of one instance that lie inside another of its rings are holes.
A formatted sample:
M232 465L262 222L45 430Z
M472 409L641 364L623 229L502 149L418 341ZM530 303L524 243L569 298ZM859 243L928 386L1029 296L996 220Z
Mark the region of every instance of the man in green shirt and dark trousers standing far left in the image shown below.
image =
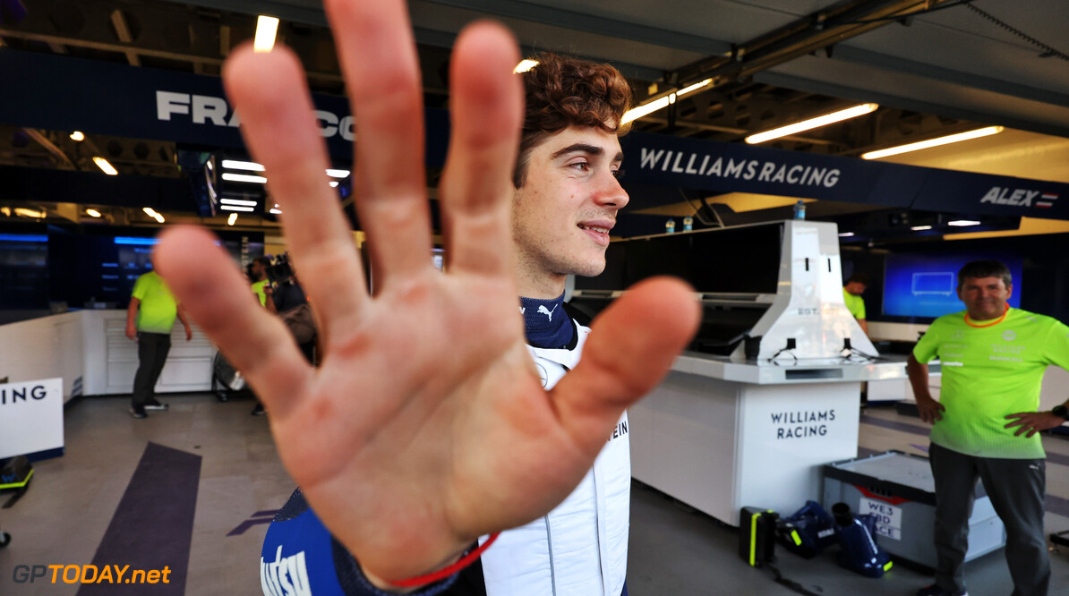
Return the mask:
M193 332L186 321L170 288L155 271L139 277L134 282L130 303L126 308L126 336L137 342L137 374L134 375L134 395L130 415L145 418L145 410L166 410L167 404L156 399L155 387L159 373L171 349L171 328L175 317L186 328L186 341Z

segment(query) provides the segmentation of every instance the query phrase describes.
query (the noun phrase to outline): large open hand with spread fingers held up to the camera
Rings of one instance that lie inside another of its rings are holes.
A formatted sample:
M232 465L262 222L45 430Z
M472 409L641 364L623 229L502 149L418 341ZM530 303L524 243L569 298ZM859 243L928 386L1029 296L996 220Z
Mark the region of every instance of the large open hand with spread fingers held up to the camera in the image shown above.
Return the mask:
M282 461L316 515L369 576L394 580L439 568L478 536L567 497L698 319L684 284L639 284L594 323L579 365L542 389L512 277L515 43L482 22L455 46L443 275L430 258L421 81L404 6L326 2L357 119L354 192L374 296L327 186L297 59L246 46L224 68L315 300L321 367L277 317L249 308L247 285L208 232L170 230L156 253L175 296L268 407Z

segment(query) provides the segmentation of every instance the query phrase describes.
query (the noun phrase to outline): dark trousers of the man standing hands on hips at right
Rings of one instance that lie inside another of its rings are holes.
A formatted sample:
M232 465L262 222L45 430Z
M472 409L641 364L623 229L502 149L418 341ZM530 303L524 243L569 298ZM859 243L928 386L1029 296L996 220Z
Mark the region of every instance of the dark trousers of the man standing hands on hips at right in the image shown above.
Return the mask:
M1051 561L1043 536L1045 460L973 457L935 443L929 455L935 477L935 583L954 594L965 591L962 567L979 476L1006 526L1012 596L1045 596L1051 582Z

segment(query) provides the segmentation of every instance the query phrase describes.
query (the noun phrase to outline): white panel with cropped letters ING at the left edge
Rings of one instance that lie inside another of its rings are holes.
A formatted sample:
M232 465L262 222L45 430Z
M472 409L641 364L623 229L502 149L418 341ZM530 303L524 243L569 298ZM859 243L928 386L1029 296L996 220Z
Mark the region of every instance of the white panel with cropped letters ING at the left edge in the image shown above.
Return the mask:
M63 446L63 379L0 383L0 458Z

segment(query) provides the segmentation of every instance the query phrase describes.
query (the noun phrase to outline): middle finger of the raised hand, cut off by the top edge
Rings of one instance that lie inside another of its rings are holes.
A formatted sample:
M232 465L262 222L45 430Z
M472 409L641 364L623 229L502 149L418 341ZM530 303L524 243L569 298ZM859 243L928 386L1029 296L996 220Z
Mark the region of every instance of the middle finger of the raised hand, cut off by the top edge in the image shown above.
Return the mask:
M324 5L356 114L356 207L375 277L388 285L431 267L416 46L400 0Z

